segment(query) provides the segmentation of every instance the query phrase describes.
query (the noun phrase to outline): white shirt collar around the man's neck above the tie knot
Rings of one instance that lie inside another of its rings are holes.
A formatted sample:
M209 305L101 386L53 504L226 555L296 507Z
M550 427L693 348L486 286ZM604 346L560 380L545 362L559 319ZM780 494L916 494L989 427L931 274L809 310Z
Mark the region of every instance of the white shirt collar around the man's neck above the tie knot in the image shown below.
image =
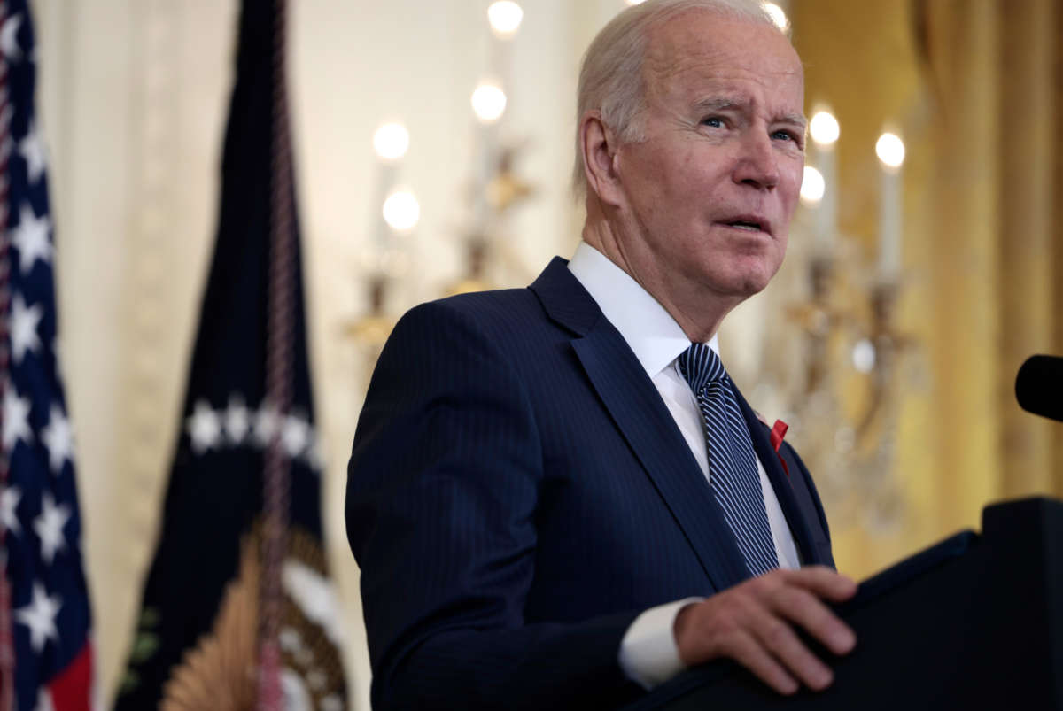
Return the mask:
M569 271L627 341L649 377L655 377L690 348L690 339L672 315L627 272L587 242L580 241L576 247ZM707 345L720 353L715 335Z

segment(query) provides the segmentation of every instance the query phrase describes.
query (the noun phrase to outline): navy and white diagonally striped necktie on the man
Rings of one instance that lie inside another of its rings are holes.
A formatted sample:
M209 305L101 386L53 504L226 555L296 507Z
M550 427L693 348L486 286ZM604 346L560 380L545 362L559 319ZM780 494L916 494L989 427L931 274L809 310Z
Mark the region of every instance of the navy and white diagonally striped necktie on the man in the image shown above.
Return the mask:
M779 566L764 510L764 492L753 440L720 356L693 343L679 356L679 370L697 395L709 446L709 489L724 511L753 575Z

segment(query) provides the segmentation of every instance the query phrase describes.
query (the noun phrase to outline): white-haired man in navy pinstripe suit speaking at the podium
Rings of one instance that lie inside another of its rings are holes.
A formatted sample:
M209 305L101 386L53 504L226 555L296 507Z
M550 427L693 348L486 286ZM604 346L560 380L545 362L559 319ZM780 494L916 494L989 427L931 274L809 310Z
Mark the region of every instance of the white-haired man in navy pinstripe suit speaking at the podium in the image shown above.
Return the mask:
M347 523L377 708L605 708L731 658L780 693L856 643L826 519L716 355L778 269L804 80L756 2L648 0L591 45L583 242L395 326Z

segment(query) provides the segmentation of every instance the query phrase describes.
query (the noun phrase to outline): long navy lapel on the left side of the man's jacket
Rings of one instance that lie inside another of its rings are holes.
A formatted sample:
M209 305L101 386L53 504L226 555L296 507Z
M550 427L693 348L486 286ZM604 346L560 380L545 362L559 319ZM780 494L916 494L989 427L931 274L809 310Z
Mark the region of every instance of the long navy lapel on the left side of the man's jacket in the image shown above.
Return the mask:
M532 289L558 323L618 429L664 501L716 590L749 577L723 511L631 349L590 294L554 259Z

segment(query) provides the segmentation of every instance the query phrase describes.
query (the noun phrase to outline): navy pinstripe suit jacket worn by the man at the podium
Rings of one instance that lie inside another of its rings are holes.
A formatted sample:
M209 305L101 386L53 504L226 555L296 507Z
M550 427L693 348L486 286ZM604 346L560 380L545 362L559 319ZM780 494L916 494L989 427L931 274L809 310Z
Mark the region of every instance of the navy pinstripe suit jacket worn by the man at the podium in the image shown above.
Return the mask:
M806 563L812 480L739 403ZM748 576L635 354L555 258L528 289L423 304L373 374L348 472L384 708L607 708L643 610Z

